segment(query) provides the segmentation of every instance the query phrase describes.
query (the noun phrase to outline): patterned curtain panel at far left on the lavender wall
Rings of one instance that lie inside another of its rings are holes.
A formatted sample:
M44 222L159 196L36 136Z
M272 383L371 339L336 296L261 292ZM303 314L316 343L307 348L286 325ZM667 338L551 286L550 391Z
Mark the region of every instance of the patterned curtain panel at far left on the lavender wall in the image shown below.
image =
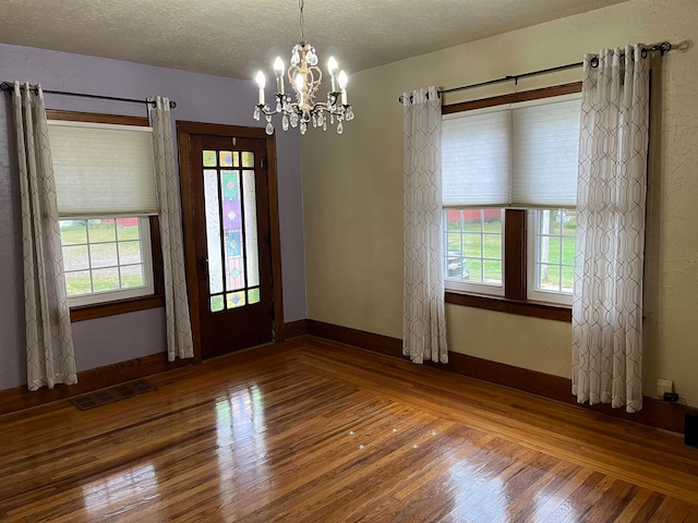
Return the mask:
M77 382L41 86L14 83L29 390Z

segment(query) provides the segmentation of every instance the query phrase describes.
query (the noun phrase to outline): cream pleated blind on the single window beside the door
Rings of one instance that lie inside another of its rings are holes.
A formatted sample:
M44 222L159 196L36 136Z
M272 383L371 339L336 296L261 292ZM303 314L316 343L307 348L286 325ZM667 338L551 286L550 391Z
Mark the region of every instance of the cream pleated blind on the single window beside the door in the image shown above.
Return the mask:
M61 217L157 214L152 127L49 121Z

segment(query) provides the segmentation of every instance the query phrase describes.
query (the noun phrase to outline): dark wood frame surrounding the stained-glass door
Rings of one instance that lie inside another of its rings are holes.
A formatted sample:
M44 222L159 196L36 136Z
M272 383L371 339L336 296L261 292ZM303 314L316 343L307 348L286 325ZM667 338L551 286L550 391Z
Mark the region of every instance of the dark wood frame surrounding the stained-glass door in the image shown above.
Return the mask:
M284 295L281 285L281 233L279 228L278 185L276 173L276 142L274 136L268 136L262 127L244 127L239 125L224 125L216 123L201 123L177 121L177 142L179 147L180 192L182 200L183 222L193 222L194 204L192 200L191 171L191 136L236 136L248 138L261 138L266 143L268 198L269 198L269 226L272 229L272 278L274 295L274 341L284 341ZM186 290L189 292L189 309L192 320L192 336L194 340L194 358L202 361L201 321L198 317L198 285L196 283L196 250L194 245L194 232L184 228L184 263L186 266Z

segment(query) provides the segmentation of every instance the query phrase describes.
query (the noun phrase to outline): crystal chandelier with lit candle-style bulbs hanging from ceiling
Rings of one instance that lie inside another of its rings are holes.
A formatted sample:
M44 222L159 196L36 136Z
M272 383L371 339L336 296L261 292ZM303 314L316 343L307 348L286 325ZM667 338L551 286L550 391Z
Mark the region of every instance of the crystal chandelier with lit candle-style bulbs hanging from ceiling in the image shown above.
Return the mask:
M266 133L274 134L272 117L281 114L281 129L288 131L291 127L300 126L301 134L305 134L310 124L313 127L327 130L327 120L330 124L337 121L337 133L344 132L344 121L353 119L351 106L347 104L347 73L339 71L337 60L333 57L327 60L327 71L332 80L329 93L326 101L315 101L315 93L320 87L323 73L317 66L317 54L315 48L305 40L303 32L303 0L298 2L300 8L301 39L291 50L291 64L286 72L291 87L296 92L296 100L284 88L285 64L280 57L274 61L274 73L276 75L276 108L272 110L264 101L264 86L266 80L264 73L260 71L255 77L260 88L260 99L254 108L254 119L260 120L262 113L266 117Z

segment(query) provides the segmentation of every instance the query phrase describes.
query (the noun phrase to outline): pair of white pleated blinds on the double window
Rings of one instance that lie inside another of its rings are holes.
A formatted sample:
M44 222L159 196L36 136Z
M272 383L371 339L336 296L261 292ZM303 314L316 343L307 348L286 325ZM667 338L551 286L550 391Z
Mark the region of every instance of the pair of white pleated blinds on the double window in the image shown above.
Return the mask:
M579 95L444 117L444 207L577 203Z

